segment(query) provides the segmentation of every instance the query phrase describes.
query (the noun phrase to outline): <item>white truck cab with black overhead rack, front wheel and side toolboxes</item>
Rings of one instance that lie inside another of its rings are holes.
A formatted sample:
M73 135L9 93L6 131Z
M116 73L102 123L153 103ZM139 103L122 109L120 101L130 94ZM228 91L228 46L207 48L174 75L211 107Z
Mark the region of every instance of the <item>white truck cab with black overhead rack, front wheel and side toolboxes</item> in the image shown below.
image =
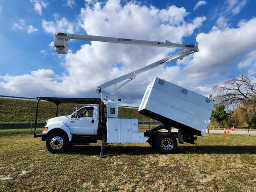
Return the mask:
M34 134L34 137L42 137L42 141L46 141L47 149L52 153L62 152L68 145L89 145L97 143L97 140L106 143L145 143L148 140L144 132L139 131L138 119L118 118L116 103L108 103L107 107L101 99L96 98L38 97L38 104L40 100L54 102L57 106L56 117L46 121L42 134ZM69 115L57 116L59 104L74 102L93 105L74 108ZM104 107L107 108L107 116Z

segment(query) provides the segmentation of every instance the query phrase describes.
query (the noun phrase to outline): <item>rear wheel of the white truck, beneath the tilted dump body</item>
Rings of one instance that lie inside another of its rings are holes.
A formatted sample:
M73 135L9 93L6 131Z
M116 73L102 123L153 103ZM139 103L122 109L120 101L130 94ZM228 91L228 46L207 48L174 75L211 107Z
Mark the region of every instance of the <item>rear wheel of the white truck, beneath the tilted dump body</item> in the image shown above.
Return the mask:
M155 145L157 148L157 151L160 153L166 154L166 153L175 153L177 150L177 140L174 135L164 133L159 134L156 138Z

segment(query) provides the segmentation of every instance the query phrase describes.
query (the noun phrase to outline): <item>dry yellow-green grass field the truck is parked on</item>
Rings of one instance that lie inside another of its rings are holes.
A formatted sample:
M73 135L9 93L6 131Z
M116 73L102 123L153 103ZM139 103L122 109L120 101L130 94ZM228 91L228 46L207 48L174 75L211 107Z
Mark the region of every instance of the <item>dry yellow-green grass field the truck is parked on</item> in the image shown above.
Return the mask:
M0 191L256 191L255 136L211 134L166 155L111 144L99 159L100 143L51 154L30 129L1 131Z

